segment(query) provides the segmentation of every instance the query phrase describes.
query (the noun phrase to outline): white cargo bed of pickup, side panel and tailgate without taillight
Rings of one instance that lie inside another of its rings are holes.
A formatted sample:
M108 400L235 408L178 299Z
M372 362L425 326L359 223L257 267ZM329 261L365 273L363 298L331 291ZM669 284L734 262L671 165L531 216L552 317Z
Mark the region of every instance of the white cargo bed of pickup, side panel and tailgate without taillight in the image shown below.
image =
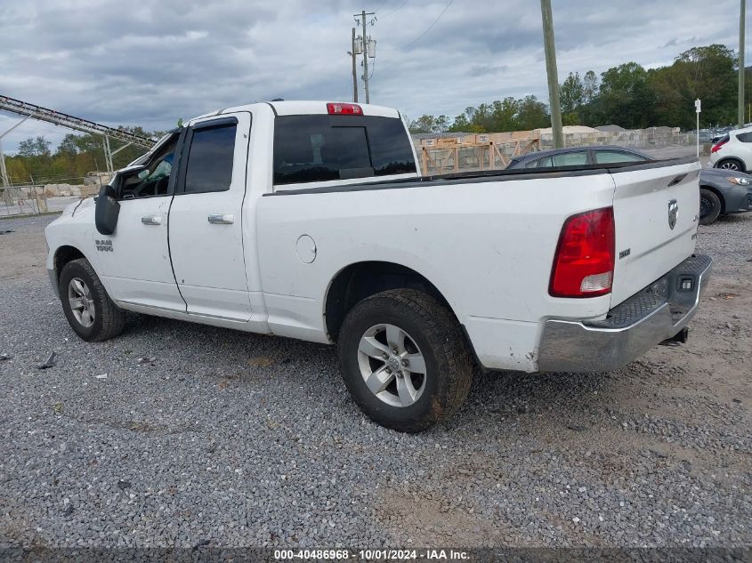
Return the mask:
M699 170L696 159L675 158L276 189L257 213L270 326L277 334L320 334L332 272L392 262L437 287L483 350L484 366L536 371L546 320L602 320L691 256ZM680 211L669 227L672 202ZM607 207L615 222L610 294L551 295L562 225ZM318 251L310 265L282 242L302 234ZM304 314L302 303L310 307Z

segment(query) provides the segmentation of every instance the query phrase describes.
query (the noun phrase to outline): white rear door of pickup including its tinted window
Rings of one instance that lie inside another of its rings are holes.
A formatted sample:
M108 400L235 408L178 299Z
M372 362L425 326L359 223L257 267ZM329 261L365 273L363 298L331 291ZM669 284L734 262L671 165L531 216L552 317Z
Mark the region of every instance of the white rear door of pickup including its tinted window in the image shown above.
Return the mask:
M207 117L190 125L170 209L170 254L187 311L247 321L243 256L251 114Z

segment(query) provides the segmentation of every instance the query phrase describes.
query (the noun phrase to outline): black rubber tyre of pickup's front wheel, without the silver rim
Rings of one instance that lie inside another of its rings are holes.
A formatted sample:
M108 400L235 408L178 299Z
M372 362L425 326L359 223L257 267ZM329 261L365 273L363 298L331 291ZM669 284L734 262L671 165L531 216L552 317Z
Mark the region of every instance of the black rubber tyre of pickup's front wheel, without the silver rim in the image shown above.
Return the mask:
M77 319L69 301L69 286L75 279L83 281L91 295L87 303L87 308L93 308L91 326L85 326ZM109 299L100 278L85 258L69 261L63 267L60 275L60 298L70 327L86 342L101 342L123 332L125 311Z

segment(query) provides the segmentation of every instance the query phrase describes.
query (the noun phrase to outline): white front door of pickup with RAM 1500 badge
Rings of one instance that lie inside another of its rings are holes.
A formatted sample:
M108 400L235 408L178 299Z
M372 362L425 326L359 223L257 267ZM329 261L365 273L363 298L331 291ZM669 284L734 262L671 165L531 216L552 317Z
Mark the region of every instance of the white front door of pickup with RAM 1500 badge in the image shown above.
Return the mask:
M172 163L178 136L175 133L167 139L144 170L121 179L115 232L109 236L96 231L93 234L102 277L117 301L185 310L167 247Z

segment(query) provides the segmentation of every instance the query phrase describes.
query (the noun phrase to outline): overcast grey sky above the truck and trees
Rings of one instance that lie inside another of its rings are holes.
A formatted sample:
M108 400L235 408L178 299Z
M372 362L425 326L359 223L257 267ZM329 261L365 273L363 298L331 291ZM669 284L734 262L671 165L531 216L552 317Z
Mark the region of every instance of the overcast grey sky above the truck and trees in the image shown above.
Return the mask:
M739 0L552 4L560 82L628 60L670 64L696 45L738 47ZM2 0L0 94L147 130L278 97L347 101L363 8L377 18L373 103L414 118L505 96L547 101L538 0ZM0 112L0 133L15 120ZM4 149L65 133L28 120Z

